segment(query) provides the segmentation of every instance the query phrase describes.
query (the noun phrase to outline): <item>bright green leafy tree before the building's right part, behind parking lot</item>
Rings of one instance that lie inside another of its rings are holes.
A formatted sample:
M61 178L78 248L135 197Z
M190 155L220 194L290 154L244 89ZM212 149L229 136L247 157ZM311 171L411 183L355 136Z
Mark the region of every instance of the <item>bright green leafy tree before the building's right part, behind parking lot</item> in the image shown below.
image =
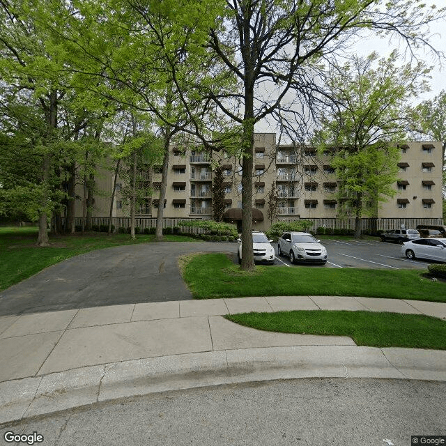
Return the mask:
M355 216L355 238L361 236L362 215L373 215L377 201L395 194L397 145L406 138L403 109L426 88L423 63L399 68L396 62L397 52L379 60L376 53L355 56L326 80L334 106L321 118L318 145L321 153L334 154L340 210Z

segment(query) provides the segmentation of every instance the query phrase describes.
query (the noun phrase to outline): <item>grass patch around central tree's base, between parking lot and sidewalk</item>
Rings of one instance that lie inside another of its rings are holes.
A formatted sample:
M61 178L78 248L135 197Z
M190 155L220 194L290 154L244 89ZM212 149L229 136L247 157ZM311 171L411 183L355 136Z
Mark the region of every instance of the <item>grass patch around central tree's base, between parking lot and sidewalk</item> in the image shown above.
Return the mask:
M226 254L189 256L183 277L194 298L263 295L353 295L446 302L446 283L416 270L256 266L241 271Z

